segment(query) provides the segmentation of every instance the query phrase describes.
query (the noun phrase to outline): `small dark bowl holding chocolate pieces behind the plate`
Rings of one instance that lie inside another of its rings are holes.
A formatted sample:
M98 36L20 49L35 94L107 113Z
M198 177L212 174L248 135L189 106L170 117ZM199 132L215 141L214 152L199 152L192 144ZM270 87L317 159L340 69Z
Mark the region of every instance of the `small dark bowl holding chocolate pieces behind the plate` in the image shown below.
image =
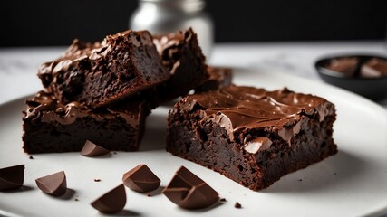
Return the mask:
M316 61L314 64L318 75L327 83L346 90L351 90L368 99L381 100L387 98L387 76L385 75L377 78L364 78L356 75L347 76L343 72L333 71L326 68L332 61L346 57L358 58L355 71L359 71L360 66L372 58L379 58L387 61L387 57L382 55L343 54L326 56ZM358 74L358 72L355 72L355 74Z

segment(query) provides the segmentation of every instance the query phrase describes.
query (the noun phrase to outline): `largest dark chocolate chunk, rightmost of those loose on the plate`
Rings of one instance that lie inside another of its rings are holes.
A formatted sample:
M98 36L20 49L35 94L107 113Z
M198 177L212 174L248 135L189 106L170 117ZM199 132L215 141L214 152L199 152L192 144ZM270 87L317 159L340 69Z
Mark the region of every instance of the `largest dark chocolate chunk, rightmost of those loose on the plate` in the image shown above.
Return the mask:
M163 192L184 209L206 208L219 200L219 194L206 182L181 166Z

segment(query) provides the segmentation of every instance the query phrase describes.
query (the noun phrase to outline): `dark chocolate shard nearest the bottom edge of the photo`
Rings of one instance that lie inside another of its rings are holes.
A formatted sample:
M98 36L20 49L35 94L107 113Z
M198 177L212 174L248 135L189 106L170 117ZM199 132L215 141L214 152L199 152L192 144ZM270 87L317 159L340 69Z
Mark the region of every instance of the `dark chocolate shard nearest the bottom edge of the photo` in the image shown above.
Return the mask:
M126 193L123 184L113 188L108 193L93 201L92 207L103 213L120 212L126 204Z

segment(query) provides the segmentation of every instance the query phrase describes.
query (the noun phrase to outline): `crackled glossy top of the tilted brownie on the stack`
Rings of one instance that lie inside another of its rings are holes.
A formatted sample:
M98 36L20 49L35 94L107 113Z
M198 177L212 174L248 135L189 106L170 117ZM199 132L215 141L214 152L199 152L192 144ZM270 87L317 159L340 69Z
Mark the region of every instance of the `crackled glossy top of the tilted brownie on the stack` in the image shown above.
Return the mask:
M67 71L78 64L83 64L83 60L96 61L102 59L111 52L117 42L124 40L124 38L129 39L129 42L137 47L140 47L141 44L153 46L152 38L148 32L139 31L137 33L127 30L122 33L108 35L102 42L94 43L81 42L75 39L62 57L55 61L45 62L40 66L38 77L42 79L44 87L48 87L61 71ZM131 35L131 37L128 37L128 35Z

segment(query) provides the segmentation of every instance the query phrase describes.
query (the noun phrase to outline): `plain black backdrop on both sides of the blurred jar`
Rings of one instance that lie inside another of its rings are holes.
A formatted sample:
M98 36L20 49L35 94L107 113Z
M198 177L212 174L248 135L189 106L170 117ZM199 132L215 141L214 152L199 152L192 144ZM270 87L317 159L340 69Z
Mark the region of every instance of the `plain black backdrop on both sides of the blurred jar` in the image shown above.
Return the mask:
M0 46L101 41L128 28L137 0L5 0ZM207 0L216 42L382 40L386 0Z

